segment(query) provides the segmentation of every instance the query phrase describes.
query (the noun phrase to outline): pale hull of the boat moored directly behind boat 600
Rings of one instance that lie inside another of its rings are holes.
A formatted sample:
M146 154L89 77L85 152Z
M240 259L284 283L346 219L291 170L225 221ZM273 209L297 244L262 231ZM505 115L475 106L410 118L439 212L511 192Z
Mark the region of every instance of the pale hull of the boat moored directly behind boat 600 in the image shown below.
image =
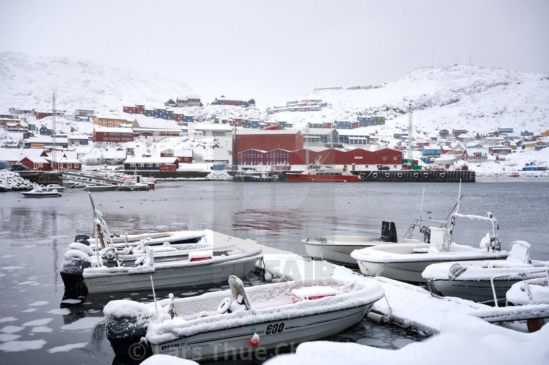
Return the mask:
M128 273L94 274L84 280L89 293L114 293L150 289L152 276L155 289L203 288L225 283L231 275L242 278L255 266L261 255L202 265L176 267L141 267ZM206 261L201 261L206 262Z

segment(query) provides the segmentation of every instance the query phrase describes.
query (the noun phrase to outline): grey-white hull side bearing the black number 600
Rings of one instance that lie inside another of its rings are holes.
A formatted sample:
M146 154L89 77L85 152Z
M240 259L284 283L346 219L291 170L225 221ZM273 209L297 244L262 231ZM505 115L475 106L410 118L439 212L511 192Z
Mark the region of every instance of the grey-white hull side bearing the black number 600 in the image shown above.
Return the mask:
M193 358L193 360L208 360L239 353L279 349L293 346L305 341L317 340L335 333L361 321L372 304L347 308L339 311L317 315L282 319L281 321L265 323L246 323L240 327L222 329L216 332L199 333L159 344L152 344L154 354ZM277 330L273 333L273 328ZM259 345L250 345L250 339L255 333L260 336ZM186 340L186 341L185 341Z

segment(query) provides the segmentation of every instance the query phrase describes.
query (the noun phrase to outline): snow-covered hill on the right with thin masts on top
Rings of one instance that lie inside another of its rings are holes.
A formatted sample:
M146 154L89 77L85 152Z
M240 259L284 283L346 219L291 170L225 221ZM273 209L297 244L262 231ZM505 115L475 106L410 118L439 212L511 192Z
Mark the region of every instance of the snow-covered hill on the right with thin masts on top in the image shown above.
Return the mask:
M489 132L497 127L545 131L549 126L549 74L518 72L478 66L422 68L379 89L320 90L289 100L322 99L331 105L322 111L283 112L270 120L293 122L356 120L358 115L385 116L385 126L369 127L379 133L399 132L408 126L412 100L418 133L467 128Z

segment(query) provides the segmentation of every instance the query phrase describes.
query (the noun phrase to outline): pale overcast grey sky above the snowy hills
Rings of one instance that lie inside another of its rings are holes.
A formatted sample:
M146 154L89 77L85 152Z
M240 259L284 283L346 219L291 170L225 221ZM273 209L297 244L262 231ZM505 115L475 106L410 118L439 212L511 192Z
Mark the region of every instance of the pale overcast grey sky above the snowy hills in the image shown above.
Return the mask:
M421 66L549 72L549 1L0 0L0 51L171 75L278 104Z

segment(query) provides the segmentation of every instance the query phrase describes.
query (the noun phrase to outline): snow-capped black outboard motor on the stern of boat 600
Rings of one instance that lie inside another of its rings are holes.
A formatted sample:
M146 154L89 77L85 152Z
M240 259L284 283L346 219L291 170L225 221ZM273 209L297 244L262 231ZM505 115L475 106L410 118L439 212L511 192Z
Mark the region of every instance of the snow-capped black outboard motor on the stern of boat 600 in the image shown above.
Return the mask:
M147 334L147 327L156 316L146 305L132 300L111 300L103 314L107 339L119 356L128 356L128 350Z

